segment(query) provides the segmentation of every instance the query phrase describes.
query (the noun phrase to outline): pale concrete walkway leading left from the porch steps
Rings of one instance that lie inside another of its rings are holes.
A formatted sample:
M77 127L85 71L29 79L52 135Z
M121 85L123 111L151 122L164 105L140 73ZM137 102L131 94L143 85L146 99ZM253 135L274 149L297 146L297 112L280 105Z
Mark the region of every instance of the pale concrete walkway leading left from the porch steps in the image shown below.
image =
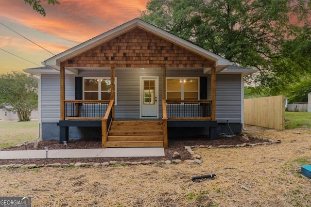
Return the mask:
M129 147L105 149L52 149L48 158L121 158L121 157L161 157L163 147ZM45 150L0 151L0 159L46 159Z

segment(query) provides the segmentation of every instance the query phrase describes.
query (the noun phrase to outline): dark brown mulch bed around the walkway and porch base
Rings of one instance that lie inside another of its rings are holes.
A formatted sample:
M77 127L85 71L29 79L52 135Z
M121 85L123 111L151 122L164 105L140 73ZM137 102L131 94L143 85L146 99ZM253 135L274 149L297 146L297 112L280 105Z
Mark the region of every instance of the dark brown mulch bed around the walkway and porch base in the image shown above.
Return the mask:
M129 158L75 158L75 159L6 159L0 160L0 165L4 164L52 164L52 163L76 163L76 162L107 162L107 161L145 161L145 160L172 160L173 153L178 152L181 156L181 160L191 159L190 154L185 150L184 146L195 146L195 145L212 145L217 147L219 145L237 145L242 144L240 140L241 134L236 134L235 137L225 138L218 136L217 140L209 140L207 137L192 137L192 138L179 138L169 139L169 148L164 149L165 156L163 157L129 157ZM259 138L249 137L247 143L260 143L263 142ZM64 144L59 144L58 140L40 141L38 149L42 150L45 146L49 146L49 149L65 149ZM69 140L67 149L94 149L101 148L100 140ZM7 150L25 150L25 146L14 146L3 148L2 151ZM34 143L27 144L27 150L35 150Z

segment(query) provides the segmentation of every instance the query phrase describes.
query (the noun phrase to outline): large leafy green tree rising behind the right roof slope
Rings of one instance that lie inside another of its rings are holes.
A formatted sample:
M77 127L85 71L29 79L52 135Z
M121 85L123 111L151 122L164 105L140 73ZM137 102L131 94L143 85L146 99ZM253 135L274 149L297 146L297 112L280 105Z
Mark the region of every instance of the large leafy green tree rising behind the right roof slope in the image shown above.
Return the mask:
M280 64L280 49L299 33L309 0L151 0L141 18L231 62L259 69L269 84L293 73ZM294 71L295 73L295 71Z

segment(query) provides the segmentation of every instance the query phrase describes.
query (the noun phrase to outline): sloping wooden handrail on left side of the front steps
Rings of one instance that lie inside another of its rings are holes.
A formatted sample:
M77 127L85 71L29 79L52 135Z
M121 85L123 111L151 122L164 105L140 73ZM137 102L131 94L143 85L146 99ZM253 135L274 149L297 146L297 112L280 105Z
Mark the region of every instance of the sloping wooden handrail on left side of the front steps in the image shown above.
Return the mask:
M102 118L102 148L106 148L107 136L114 119L114 100L110 100L104 118Z

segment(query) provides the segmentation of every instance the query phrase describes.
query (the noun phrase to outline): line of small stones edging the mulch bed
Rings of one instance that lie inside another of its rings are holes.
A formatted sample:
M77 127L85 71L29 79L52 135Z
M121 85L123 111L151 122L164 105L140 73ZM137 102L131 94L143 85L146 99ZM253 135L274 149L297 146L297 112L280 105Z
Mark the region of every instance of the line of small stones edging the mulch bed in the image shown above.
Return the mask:
M79 168L79 167L118 167L118 166L126 166L126 165L150 165L150 164L178 164L181 162L188 163L188 164L200 164L202 163L201 156L197 155L193 152L192 149L199 149L199 148L207 148L207 149L215 149L215 148L232 148L232 147L254 147L257 145L267 145L267 144L275 144L281 143L281 140L273 140L267 138L259 138L262 139L264 142L262 143L242 143L237 145L218 145L213 147L212 145L195 145L195 146L185 146L185 150L191 155L191 159L186 159L184 161L180 159L172 159L172 160L146 160L146 161L109 161L109 162L70 162L67 163L52 163L52 164L8 164L8 165L0 165L0 168L12 169L12 168L41 168L41 167L61 167L61 168ZM178 157L178 156L177 156Z

